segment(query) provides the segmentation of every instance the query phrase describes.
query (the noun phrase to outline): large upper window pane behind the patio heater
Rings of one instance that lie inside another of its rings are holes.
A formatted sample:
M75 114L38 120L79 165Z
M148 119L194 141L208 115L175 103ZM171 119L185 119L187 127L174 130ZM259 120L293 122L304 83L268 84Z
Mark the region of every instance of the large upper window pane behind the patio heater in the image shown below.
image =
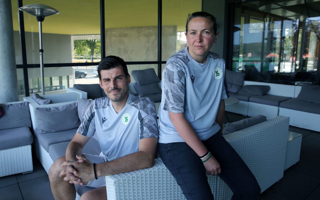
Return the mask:
M100 60L99 1L24 0L23 4L45 4L60 14L45 17L42 22L44 63L91 62ZM40 63L39 23L35 16L24 12L28 64ZM98 34L99 36L96 36ZM75 36L76 35L76 36ZM80 35L80 36L78 36ZM82 40L75 48L74 41ZM15 41L20 41L15 38ZM79 51L79 48L83 51ZM76 54L78 56L76 56ZM83 58L85 59L79 59ZM92 57L92 59L91 59Z

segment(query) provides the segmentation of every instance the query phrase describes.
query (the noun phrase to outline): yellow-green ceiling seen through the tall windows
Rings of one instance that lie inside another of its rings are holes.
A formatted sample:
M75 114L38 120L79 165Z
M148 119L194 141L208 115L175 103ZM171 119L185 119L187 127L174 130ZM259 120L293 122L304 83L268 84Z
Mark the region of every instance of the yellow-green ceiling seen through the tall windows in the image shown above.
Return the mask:
M184 31L189 13L201 11L201 0L163 0L162 25L177 25ZM13 29L19 30L17 0L12 0ZM60 14L44 19L43 33L68 35L100 34L98 0L24 0L23 5L45 4ZM157 26L157 0L105 0L106 28ZM25 31L38 32L35 16L24 13Z

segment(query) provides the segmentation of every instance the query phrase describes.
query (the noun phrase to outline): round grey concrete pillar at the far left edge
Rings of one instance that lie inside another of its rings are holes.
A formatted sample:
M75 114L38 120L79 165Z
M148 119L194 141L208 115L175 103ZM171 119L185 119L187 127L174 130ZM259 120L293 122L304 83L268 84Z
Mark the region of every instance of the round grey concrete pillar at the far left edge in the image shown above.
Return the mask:
M10 0L0 0L0 27L0 102L18 101L18 81Z

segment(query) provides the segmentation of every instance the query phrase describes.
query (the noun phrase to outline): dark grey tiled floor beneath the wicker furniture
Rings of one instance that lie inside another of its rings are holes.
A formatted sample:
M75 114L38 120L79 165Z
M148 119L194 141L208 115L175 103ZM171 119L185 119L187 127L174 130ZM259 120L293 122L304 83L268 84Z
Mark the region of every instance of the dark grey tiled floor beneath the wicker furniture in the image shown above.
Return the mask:
M231 122L246 118L227 113ZM289 130L303 135L300 162L284 171L283 180L264 191L260 200L320 199L320 132L290 126ZM0 200L53 199L48 175L39 161L34 172L0 178Z

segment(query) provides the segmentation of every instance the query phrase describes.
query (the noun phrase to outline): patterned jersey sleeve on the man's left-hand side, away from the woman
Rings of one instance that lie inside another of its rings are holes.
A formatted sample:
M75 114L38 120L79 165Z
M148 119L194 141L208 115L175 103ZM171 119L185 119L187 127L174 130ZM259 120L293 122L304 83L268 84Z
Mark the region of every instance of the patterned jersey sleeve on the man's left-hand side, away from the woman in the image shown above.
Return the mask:
M81 124L77 130L77 133L81 135L92 137L96 131L95 121L94 121L94 112L95 110L95 100L90 104L87 110L84 113Z

